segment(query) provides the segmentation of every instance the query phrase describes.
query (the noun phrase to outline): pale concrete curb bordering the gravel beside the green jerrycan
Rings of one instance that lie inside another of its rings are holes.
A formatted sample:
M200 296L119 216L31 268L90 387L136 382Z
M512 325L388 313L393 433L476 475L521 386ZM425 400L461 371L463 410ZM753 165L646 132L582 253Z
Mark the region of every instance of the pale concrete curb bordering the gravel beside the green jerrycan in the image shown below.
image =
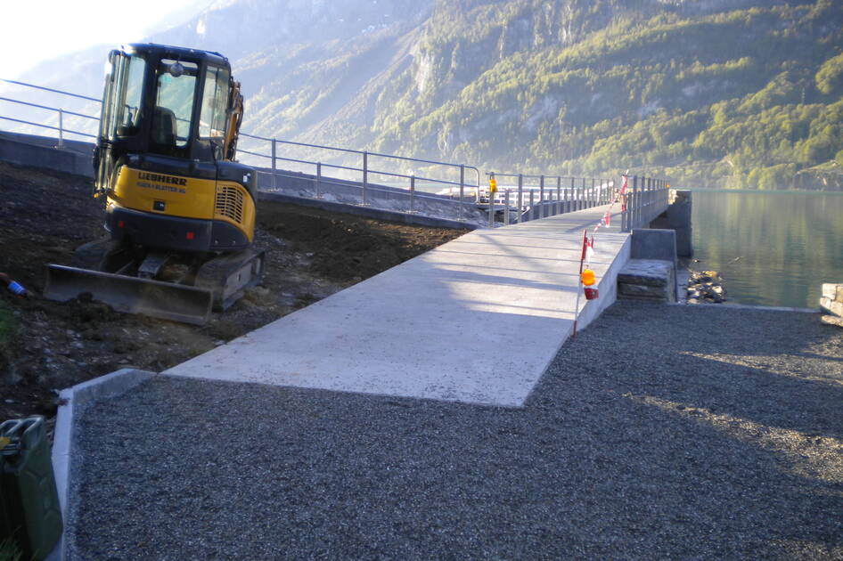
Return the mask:
M77 408L104 397L123 394L153 376L157 376L157 373L125 368L61 390L59 399L62 404L56 414L55 431L53 432L53 473L55 474L56 491L59 493L61 518L65 525L61 540L56 544L50 555L46 557L46 561L62 561L67 555L70 462L73 461L73 439L76 434L75 414L78 413Z

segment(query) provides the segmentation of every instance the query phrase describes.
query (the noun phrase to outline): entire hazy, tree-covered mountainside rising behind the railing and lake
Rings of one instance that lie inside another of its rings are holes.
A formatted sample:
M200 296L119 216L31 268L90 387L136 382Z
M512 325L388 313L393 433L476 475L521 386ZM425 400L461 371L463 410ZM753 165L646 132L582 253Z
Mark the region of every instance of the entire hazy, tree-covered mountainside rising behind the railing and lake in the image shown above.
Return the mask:
M255 134L499 172L843 190L839 1L227 0L149 39L225 53Z

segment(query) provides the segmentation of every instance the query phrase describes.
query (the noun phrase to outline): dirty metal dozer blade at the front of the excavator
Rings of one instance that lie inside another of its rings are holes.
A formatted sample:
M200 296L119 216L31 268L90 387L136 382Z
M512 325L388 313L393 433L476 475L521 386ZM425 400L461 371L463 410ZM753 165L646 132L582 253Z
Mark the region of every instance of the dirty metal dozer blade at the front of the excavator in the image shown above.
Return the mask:
M64 265L47 266L45 298L67 302L85 293L119 312L195 325L208 321L214 300L208 289Z

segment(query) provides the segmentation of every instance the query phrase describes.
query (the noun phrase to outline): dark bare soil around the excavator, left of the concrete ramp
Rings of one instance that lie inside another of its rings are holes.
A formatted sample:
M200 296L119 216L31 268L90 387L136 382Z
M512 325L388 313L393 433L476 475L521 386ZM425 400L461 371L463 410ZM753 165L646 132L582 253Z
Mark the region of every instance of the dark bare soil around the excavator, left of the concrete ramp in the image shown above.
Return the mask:
M0 162L0 421L52 417L58 391L120 368L166 370L462 235L262 200L255 246L261 286L198 327L117 313L95 301L42 298L46 264L70 264L102 237L91 180Z

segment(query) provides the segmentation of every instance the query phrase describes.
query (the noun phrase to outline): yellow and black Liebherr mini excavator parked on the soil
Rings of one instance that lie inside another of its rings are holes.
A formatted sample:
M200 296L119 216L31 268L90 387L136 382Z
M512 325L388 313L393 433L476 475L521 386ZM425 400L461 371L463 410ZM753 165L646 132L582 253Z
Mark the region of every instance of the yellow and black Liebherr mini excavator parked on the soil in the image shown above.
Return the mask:
M219 53L111 51L94 149L109 235L47 268L45 297L202 324L261 279L252 246L258 177L234 161L240 84Z

